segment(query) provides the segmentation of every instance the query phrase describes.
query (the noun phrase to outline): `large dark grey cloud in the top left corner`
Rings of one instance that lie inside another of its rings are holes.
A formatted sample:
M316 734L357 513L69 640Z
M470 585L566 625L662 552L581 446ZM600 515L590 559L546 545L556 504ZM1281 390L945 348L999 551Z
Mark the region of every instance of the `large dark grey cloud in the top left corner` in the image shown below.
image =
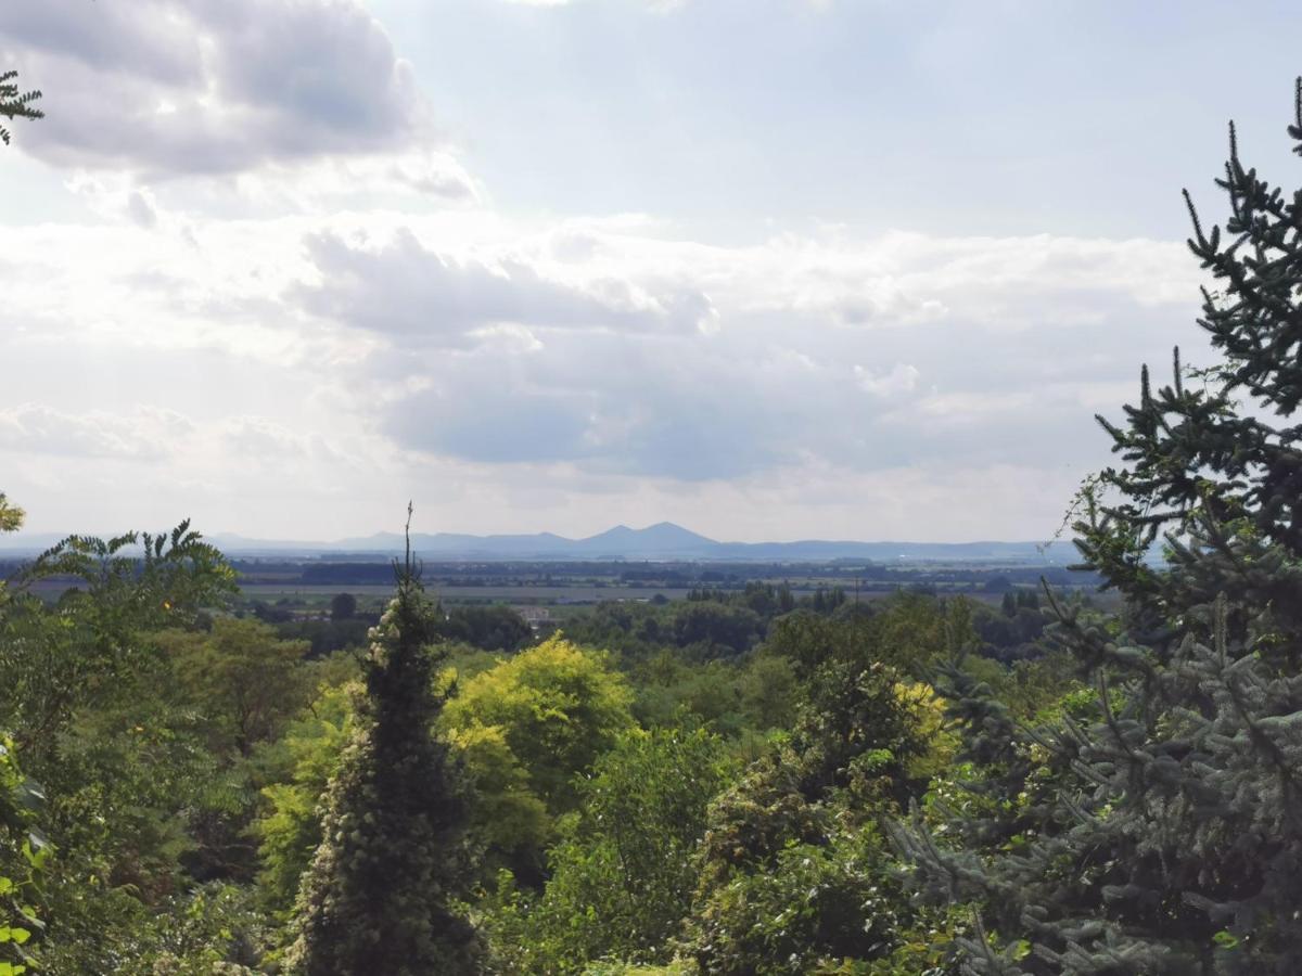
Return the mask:
M0 53L46 91L23 147L56 164L229 173L427 129L409 66L355 0L4 4Z

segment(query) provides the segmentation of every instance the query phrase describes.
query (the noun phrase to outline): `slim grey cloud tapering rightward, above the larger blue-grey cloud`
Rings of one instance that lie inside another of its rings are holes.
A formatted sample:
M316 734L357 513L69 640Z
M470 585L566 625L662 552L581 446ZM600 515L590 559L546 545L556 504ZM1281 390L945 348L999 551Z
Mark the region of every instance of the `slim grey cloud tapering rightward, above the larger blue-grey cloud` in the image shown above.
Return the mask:
M712 315L693 289L644 293L628 281L586 286L553 281L519 258L493 265L457 262L400 232L379 250L335 234L306 241L320 284L297 289L315 315L391 336L445 346L473 344L470 333L496 323L540 328L691 332Z

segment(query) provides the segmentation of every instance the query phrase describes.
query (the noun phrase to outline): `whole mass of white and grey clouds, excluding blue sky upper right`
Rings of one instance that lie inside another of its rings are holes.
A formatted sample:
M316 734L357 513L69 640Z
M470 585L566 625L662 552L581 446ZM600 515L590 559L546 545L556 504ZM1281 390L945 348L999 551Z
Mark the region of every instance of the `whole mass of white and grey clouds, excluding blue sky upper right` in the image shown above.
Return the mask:
M1034 537L1190 334L1173 242L513 213L353 0L8 4L0 59L77 208L0 238L34 530Z

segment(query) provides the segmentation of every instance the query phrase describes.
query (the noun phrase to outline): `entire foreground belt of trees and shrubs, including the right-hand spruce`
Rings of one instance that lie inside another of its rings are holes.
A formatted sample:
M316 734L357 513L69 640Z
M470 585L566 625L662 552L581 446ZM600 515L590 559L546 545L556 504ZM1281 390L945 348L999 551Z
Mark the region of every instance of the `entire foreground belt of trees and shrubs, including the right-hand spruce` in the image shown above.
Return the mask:
M307 626L186 523L22 566L0 976L1302 971L1302 191L1233 139L1219 185L1223 359L1144 371L1077 500L1116 614L753 583L546 634L409 553Z

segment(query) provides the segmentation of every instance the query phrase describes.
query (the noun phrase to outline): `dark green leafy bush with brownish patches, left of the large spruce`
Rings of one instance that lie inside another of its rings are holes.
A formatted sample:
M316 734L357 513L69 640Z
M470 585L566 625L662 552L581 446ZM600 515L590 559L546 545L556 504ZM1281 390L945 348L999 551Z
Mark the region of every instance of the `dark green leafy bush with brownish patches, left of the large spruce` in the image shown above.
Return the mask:
M703 972L866 966L915 923L876 822L924 753L928 701L885 665L796 636L812 668L797 727L710 811L684 946Z

